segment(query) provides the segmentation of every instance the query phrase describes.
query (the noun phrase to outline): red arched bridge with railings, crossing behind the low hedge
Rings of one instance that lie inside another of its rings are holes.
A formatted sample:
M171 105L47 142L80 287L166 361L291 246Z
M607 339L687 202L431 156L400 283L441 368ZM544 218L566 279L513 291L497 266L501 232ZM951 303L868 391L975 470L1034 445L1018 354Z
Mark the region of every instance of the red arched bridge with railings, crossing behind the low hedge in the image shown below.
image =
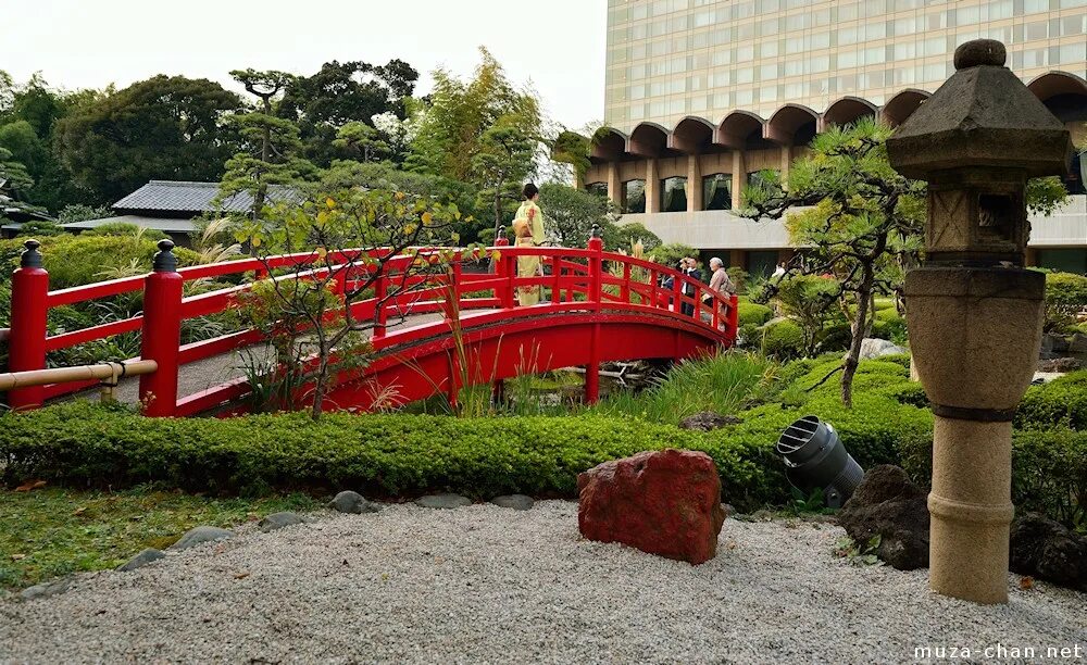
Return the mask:
M0 389L10 388L13 409L37 407L103 378L115 382L128 372L141 374L139 398L147 415L236 411L250 392L245 378L178 396L178 376L208 359L228 362L235 352L266 341L265 334L242 329L183 344L180 326L237 308L239 297L270 271L276 280L336 271L337 306L350 308L354 321L370 322L371 356L363 368L336 378L327 393L330 407L365 411L377 401L407 403L436 393L455 401L466 385L572 366L585 366L586 400L594 402L602 362L683 360L714 353L736 338L735 296L713 292L660 264L605 252L599 238L590 239L587 249L514 248L503 238L486 250L345 250L332 262L328 254L309 252L180 269L174 267L173 244L163 241L155 268L146 276L53 291L38 244L26 246L12 280L12 374L0 375ZM521 256L538 256L542 274L518 276ZM442 269L428 269L438 265ZM184 296L186 283L209 279L240 284ZM352 290L363 280L372 288ZM533 287L540 290L540 303L518 306L517 289ZM48 332L53 308L135 292L143 303L136 316ZM424 314L430 316L418 316ZM140 357L42 372L50 352L132 331L141 332Z

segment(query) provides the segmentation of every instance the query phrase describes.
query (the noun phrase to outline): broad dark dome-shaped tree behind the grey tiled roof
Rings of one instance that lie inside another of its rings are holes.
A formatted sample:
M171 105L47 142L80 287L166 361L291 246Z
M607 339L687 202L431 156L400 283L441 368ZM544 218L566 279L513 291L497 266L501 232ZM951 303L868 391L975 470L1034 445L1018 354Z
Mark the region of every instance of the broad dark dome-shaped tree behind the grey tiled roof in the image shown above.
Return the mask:
M240 106L217 83L160 75L73 109L57 123L57 150L89 203L154 178L214 181L236 149L227 121Z

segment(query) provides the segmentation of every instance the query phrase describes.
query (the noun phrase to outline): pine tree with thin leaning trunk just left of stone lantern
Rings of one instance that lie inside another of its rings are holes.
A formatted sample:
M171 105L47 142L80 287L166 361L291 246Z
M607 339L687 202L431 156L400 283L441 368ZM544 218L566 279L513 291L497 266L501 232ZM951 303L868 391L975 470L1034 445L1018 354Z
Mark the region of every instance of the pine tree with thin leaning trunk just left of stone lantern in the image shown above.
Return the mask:
M923 242L926 187L890 166L886 141L892 131L871 118L834 127L792 163L788 187L776 172L763 172L760 185L745 190L745 214L785 217L792 242L805 248L789 264L789 274L832 275L838 281L834 297L851 332L840 367L847 406L852 405L861 342L871 330L873 298L901 284ZM1045 179L1029 185L1027 204L1033 211L1052 210L1064 196L1059 180ZM773 290L771 285L765 294Z

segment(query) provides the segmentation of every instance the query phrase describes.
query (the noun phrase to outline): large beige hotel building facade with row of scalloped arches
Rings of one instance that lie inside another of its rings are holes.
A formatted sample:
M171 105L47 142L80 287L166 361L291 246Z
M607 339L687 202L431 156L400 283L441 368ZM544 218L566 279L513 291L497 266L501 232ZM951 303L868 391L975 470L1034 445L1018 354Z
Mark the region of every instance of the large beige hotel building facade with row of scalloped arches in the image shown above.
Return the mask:
M605 128L585 185L666 242L766 272L777 222L735 216L742 188L830 125L902 123L987 37L1087 148L1087 0L609 0ZM1033 219L1030 259L1087 272L1085 162L1070 203Z

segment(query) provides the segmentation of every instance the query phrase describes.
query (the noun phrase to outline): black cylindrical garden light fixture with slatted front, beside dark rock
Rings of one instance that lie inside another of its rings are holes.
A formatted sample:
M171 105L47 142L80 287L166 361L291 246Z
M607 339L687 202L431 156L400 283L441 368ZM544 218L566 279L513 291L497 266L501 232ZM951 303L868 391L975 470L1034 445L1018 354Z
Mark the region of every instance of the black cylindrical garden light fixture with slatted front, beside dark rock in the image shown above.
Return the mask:
M785 460L785 476L804 495L823 490L827 507L841 507L864 477L864 469L829 423L809 415L782 434L774 447Z

